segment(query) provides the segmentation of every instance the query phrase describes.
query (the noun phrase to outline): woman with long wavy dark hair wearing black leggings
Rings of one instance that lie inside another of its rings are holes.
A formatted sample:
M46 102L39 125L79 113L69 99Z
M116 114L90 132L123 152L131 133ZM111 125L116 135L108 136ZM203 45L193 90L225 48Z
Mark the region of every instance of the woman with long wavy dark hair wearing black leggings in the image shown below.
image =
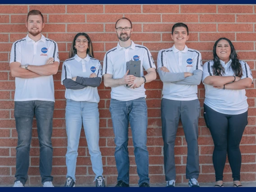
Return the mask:
M214 142L213 165L215 187L223 187L223 171L228 154L233 187L242 187L240 169L242 156L239 145L248 123L245 88L253 82L249 65L236 53L232 42L219 38L213 47L214 59L203 65L205 84L204 118Z

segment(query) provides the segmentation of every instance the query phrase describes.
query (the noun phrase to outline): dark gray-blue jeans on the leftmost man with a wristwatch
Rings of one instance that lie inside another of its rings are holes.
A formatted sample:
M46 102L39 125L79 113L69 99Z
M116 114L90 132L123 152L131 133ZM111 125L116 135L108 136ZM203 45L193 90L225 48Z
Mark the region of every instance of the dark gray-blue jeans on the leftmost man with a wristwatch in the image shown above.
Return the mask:
M37 133L40 146L40 174L41 182L52 181L52 118L53 101L15 101L14 117L18 132L18 146L16 147L16 181L25 185L29 167L29 151L32 138L32 122L34 115L37 119Z

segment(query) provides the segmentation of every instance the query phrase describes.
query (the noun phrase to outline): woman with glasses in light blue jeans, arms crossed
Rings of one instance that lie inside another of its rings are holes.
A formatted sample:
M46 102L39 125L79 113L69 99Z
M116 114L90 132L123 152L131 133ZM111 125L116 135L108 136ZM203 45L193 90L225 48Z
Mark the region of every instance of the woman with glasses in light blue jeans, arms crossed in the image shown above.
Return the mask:
M91 155L92 170L96 174L96 187L105 187L102 176L102 157L99 147L100 97L97 87L101 84L102 68L94 59L92 43L86 33L78 33L72 42L69 59L62 66L61 84L66 87L66 153L67 180L64 187L75 187L78 144L82 123Z

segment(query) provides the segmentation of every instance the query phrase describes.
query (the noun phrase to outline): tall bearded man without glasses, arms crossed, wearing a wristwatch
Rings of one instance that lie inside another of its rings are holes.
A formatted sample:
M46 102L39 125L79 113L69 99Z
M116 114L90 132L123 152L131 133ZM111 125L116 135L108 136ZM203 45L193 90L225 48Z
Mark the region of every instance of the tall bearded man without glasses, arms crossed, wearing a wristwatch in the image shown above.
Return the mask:
M58 46L41 34L44 18L40 11L27 14L28 35L15 41L10 56L10 71L15 77L14 117L18 132L16 180L13 187L27 181L32 121L37 119L40 144L40 174L43 187L52 184L52 118L54 110L53 74L59 68Z

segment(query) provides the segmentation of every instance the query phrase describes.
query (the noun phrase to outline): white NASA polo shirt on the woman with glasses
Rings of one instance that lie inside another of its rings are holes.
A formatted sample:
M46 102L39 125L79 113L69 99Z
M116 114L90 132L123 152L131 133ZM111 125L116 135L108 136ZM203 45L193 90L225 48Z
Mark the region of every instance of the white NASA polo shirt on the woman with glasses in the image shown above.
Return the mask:
M67 59L62 65L61 84L66 78L73 77L89 78L91 73L96 73L97 77L102 77L102 67L98 59L91 58L88 54L82 59L78 55ZM65 98L73 101L100 102L97 87L85 87L83 89L66 89Z

